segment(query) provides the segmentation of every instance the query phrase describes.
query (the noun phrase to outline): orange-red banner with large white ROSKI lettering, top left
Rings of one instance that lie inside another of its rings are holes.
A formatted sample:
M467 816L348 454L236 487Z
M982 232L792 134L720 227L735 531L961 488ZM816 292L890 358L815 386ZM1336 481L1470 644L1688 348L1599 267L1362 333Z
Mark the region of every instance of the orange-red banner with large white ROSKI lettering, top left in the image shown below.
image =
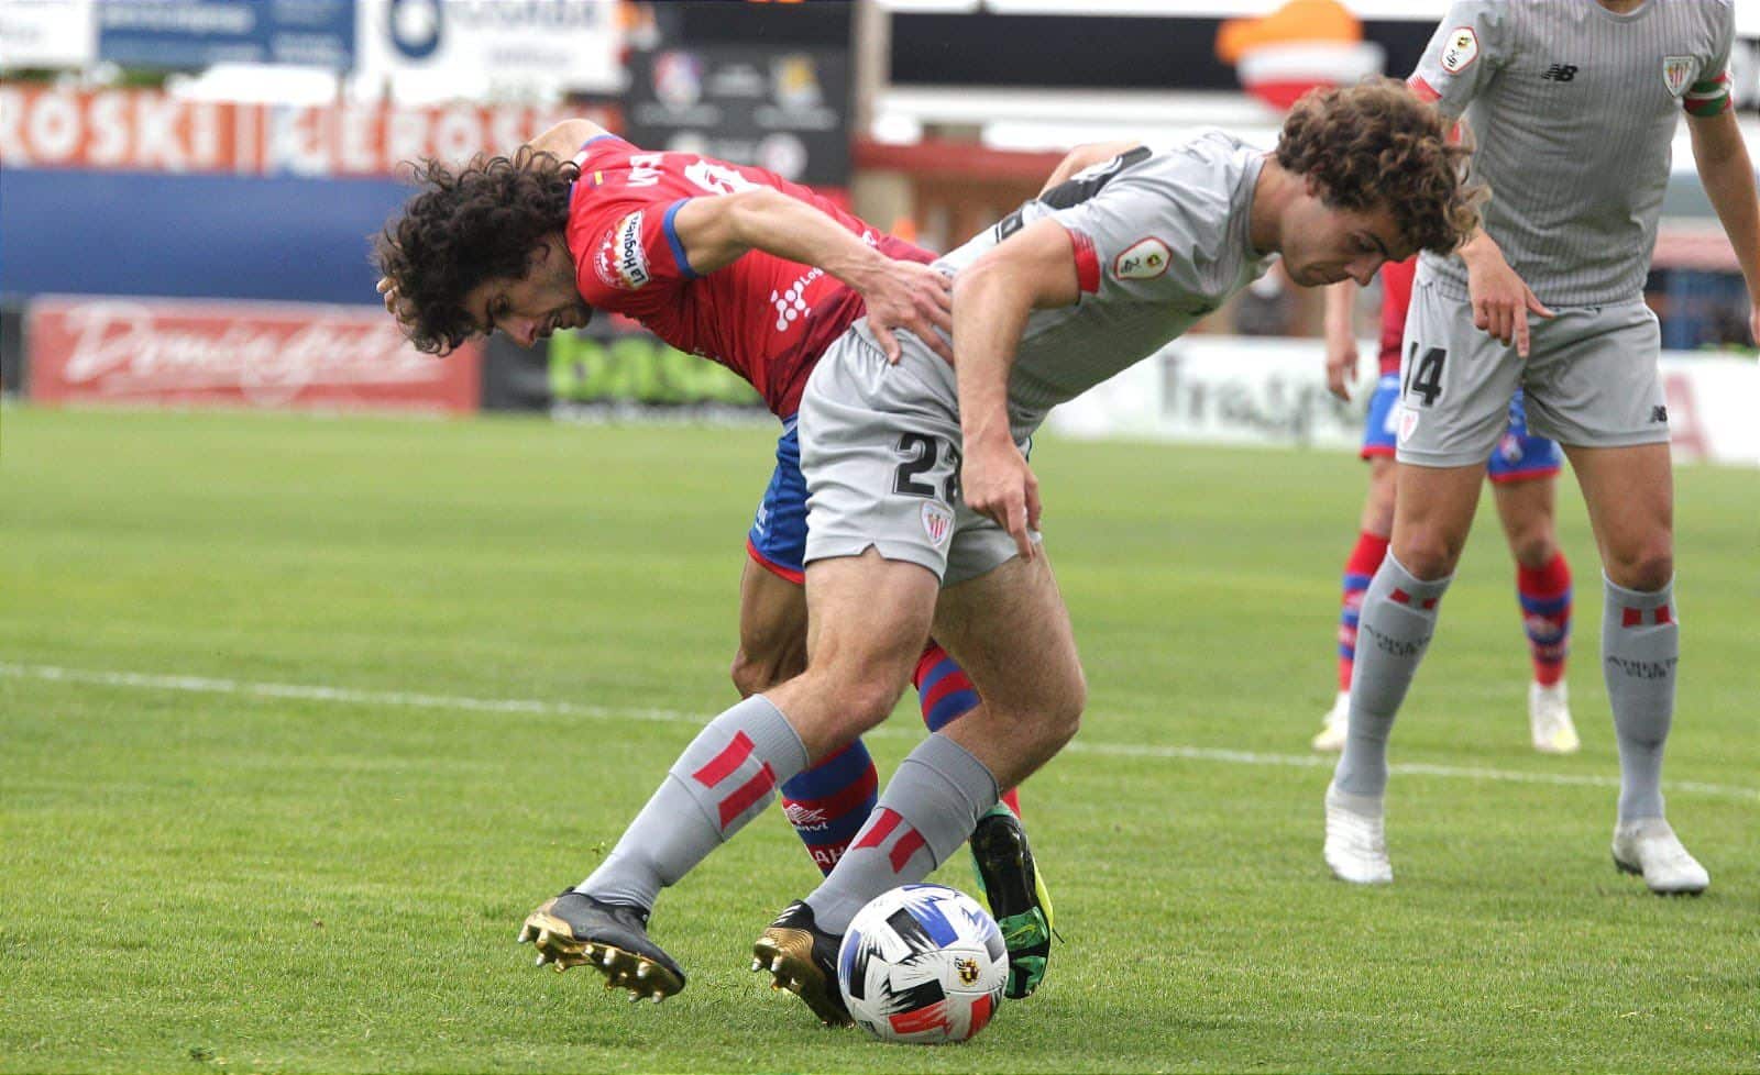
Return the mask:
M255 176L389 176L405 160L510 153L581 106L396 107L181 100L153 90L0 86L0 164Z

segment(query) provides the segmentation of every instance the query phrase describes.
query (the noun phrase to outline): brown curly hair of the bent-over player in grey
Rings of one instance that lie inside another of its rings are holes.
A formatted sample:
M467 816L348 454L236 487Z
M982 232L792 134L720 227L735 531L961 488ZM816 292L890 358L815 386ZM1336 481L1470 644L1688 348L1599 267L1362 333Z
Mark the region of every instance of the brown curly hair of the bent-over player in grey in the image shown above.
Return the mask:
M1313 176L1336 209L1385 206L1415 250L1448 253L1478 227L1485 186L1470 181L1471 144L1404 83L1311 90L1283 121L1278 164Z

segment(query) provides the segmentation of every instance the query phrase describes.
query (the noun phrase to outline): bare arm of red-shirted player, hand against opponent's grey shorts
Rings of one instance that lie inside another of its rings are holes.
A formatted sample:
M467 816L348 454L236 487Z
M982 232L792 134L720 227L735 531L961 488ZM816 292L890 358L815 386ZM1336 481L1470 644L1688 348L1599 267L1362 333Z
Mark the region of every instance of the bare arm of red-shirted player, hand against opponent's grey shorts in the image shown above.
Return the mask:
M868 327L889 359L896 362L899 355L896 329L908 329L949 362L954 359L935 331L952 331L947 276L880 253L803 201L767 186L693 197L679 208L672 227L699 274L730 266L748 250L817 266L861 292Z

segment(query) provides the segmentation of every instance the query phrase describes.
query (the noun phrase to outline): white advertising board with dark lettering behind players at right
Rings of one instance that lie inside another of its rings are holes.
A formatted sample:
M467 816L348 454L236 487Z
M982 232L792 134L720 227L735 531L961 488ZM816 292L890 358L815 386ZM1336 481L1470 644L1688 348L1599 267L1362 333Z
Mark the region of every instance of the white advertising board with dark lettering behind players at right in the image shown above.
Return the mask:
M1047 428L1144 438L1357 450L1375 348L1346 403L1327 392L1320 341L1186 336L1051 412ZM1739 355L1663 352L1663 391L1683 461L1760 466L1760 366Z

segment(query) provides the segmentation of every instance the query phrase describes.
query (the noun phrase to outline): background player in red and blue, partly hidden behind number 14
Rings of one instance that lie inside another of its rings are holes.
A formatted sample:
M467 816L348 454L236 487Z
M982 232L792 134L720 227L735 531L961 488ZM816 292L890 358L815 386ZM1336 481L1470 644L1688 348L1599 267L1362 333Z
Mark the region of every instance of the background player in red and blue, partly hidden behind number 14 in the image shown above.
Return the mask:
M1362 503L1357 544L1345 561L1345 600L1338 628L1338 698L1325 714L1320 734L1313 737L1313 748L1318 751L1345 748L1362 595L1382 567L1382 558L1387 556L1394 528L1394 445L1401 413L1399 352L1415 274L1415 260L1382 269L1382 377L1369 398L1369 413L1362 428L1362 457L1369 461L1369 494ZM1325 299L1327 387L1339 399L1350 398L1346 385L1357 369L1357 338L1350 324L1353 294L1353 283L1334 283L1327 289ZM1528 417L1517 392L1510 401L1508 429L1491 452L1485 477L1491 480L1498 519L1503 523L1503 535L1515 559L1515 596L1535 669L1533 683L1528 684L1528 734L1535 750L1552 755L1575 753L1580 746L1577 728L1570 721L1570 698L1565 688L1572 591L1570 563L1558 544L1554 514L1556 479L1563 461L1556 442L1528 433Z

